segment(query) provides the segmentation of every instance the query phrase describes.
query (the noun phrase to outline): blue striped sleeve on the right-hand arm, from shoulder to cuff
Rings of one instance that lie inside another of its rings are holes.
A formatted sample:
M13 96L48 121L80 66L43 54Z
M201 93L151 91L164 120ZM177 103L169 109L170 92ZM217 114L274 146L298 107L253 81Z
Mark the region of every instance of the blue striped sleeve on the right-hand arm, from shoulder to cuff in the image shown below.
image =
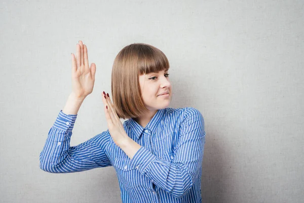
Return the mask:
M198 110L189 110L180 126L179 144L173 161L160 159L141 147L131 162L141 174L178 198L201 176L204 155L204 119Z

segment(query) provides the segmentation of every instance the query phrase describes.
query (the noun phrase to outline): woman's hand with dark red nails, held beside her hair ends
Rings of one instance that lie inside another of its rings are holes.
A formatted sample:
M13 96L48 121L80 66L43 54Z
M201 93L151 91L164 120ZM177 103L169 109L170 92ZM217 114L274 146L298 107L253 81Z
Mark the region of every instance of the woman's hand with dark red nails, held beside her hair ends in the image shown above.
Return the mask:
M122 122L120 121L120 118L118 117L117 113L114 110L114 106L112 104L112 101L108 93L105 94L105 92L103 92L102 101L104 104L104 112L105 112L105 117L108 124L110 135L113 141L115 142L115 144L120 146L130 138L126 133L125 128Z

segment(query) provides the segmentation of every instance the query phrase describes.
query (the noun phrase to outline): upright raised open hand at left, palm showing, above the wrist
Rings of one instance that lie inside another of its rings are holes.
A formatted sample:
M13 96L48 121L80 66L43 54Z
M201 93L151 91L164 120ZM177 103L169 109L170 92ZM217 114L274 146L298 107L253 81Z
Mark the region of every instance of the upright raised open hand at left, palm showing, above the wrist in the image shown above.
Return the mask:
M72 53L72 94L76 98L84 99L91 94L94 87L96 65L89 67L88 49L82 41L76 45L76 57Z

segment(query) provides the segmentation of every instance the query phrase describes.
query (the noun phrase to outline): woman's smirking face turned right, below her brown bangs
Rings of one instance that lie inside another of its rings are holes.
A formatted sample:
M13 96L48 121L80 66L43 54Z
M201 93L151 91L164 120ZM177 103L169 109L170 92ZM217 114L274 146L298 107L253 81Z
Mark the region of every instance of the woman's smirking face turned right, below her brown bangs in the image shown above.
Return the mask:
M150 111L165 109L172 99L172 87L168 71L149 73L139 76L139 84L143 102ZM165 95L161 95L167 93Z

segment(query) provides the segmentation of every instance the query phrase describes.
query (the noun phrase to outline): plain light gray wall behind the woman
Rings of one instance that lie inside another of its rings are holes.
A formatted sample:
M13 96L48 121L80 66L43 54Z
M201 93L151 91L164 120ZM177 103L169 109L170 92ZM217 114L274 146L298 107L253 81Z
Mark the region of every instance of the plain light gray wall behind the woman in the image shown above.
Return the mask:
M70 53L83 40L97 66L71 146L107 129L102 91L126 45L168 57L170 107L205 119L204 202L304 198L304 2L1 1L1 202L120 202L112 167L39 168L71 92Z

